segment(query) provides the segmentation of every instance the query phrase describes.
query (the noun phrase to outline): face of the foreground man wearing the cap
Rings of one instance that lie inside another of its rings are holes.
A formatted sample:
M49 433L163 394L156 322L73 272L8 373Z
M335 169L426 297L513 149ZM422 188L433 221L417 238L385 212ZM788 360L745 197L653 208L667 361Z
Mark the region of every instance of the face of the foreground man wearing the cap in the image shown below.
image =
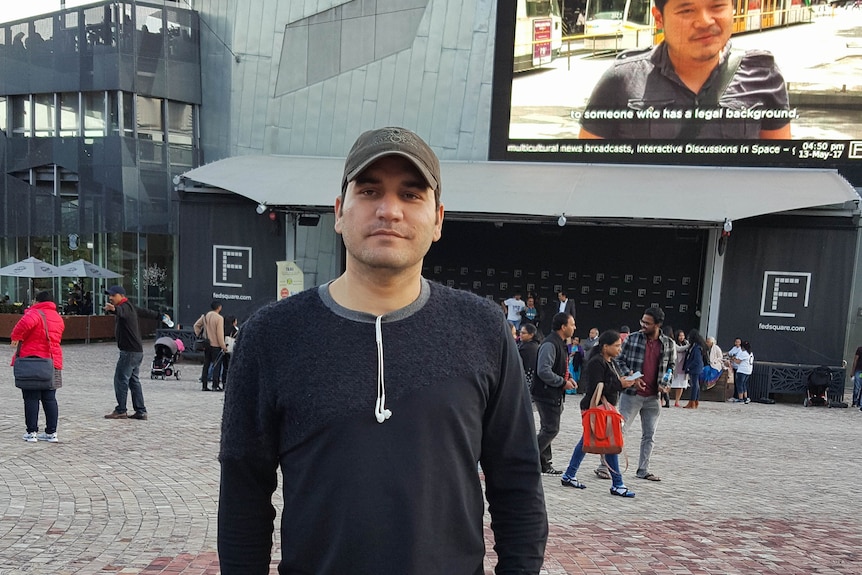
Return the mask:
M440 239L443 206L416 167L401 156L380 158L347 184L335 200L335 231L348 265L377 272L422 266Z

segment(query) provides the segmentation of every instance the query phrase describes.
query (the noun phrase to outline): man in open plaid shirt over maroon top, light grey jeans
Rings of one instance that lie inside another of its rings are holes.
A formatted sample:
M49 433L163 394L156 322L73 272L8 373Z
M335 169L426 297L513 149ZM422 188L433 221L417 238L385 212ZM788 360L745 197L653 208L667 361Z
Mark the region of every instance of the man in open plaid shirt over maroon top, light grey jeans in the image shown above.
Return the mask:
M631 433L636 416L641 420L640 453L635 475L639 479L661 481L650 471L650 457L655 447L655 432L661 416L659 397L667 393L668 383L663 374L673 371L676 350L673 340L661 332L664 311L659 307L648 307L641 317L641 329L626 338L617 365L624 375L641 376L637 385L625 390L620 397L620 413L625 419L623 428L626 435ZM671 373L672 375L672 373ZM599 470L596 470L596 474Z

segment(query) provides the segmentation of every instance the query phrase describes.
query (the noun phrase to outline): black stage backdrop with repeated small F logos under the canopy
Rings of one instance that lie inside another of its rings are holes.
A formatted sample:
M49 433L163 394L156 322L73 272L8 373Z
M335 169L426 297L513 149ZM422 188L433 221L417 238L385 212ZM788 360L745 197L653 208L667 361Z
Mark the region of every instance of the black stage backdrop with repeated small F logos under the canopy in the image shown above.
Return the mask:
M696 229L446 222L423 275L497 302L535 292L545 327L562 288L576 302L581 336L592 327L636 331L654 304L666 325L687 331L700 325L706 242Z

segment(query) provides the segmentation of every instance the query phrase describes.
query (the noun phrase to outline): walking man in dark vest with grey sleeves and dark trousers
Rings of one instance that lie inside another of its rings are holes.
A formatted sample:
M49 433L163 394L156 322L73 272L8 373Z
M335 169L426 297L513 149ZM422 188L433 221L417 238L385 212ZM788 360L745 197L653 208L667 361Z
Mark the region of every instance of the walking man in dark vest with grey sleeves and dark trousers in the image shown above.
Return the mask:
M567 389L574 389L575 382L569 375L569 350L566 341L575 333L575 318L567 313L558 313L551 318L551 333L539 346L536 363L536 381L533 383L533 402L539 413L539 461L545 475L562 475L554 469L551 442L560 433L560 417Z

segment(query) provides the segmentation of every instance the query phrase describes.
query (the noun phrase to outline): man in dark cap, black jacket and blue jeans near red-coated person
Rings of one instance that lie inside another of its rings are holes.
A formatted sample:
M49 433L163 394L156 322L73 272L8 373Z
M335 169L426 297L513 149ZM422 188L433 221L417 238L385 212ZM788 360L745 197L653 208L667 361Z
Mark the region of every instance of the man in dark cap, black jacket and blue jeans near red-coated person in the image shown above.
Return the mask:
M114 411L105 416L105 419L131 418L146 421L147 408L144 405L144 389L140 378L144 346L141 343L138 317L164 319L167 316L133 305L126 297L123 286L111 286L105 291L105 295L108 296L108 302L103 309L116 316L114 337L120 350L120 357L114 369L114 394L117 397L117 406ZM129 392L132 394L132 407L135 410L132 415L128 415L126 407Z

